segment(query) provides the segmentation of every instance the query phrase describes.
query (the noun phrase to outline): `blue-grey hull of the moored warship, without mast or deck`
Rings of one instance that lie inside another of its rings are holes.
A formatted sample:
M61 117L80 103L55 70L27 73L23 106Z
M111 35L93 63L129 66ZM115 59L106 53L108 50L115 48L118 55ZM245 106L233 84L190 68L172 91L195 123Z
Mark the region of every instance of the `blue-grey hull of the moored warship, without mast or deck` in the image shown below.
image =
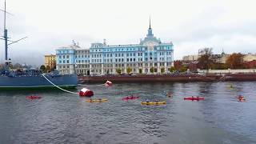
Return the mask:
M76 74L45 75L50 82L62 88L75 88L78 85ZM57 89L48 82L42 75L38 76L0 76L0 90L36 90L36 89Z

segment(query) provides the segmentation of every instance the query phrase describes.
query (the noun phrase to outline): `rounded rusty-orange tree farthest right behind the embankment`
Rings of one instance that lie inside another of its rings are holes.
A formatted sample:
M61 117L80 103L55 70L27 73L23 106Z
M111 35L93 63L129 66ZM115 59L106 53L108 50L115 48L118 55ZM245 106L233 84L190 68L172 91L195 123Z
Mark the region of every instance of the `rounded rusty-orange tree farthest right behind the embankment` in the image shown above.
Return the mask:
M239 69L242 68L243 65L243 55L240 53L233 53L226 59L226 65L230 69Z

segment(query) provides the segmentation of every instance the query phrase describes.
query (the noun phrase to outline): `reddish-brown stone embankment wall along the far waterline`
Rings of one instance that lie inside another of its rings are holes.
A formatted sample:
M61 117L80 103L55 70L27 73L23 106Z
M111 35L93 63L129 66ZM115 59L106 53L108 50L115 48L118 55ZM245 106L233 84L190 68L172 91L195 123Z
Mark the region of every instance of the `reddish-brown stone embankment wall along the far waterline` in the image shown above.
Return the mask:
M139 74L139 75L104 75L80 76L84 82L229 82L256 81L256 74Z

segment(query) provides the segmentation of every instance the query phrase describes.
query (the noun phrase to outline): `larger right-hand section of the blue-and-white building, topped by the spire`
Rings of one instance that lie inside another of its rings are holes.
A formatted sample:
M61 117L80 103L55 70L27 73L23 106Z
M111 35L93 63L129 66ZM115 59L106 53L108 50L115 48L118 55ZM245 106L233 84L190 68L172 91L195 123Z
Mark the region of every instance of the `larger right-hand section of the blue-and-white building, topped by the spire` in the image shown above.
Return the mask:
M174 45L154 37L151 26L138 44L90 46L90 74L161 73L173 66Z

